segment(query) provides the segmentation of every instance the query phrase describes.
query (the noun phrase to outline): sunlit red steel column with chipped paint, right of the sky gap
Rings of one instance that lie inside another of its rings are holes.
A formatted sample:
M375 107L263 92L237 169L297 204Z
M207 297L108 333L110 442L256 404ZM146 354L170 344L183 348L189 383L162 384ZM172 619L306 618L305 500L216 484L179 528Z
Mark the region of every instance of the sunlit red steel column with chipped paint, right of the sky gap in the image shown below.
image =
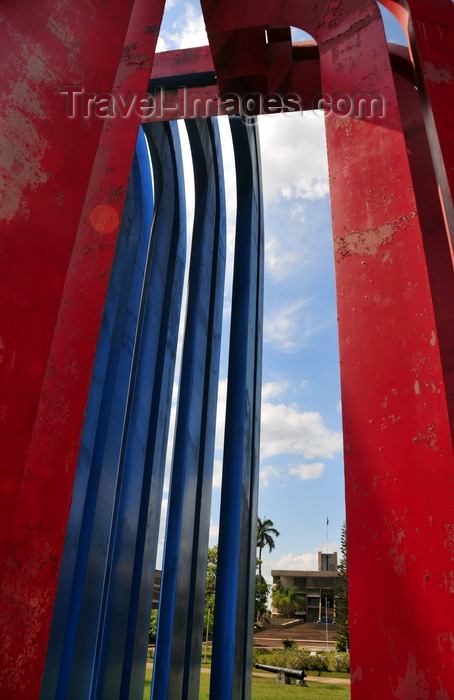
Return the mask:
M358 32L332 30L320 54L328 94L385 98L382 119L333 112L326 119L352 698L448 698L454 695L452 438L421 226L378 20Z

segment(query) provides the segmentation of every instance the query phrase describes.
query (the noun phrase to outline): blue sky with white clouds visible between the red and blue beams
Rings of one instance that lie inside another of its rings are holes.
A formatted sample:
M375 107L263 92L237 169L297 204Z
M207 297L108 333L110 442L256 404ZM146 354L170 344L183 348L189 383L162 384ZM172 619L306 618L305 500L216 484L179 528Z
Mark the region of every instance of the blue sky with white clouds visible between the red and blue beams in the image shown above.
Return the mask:
M380 9L388 41L406 43L397 21ZM293 36L294 40L307 38L297 31ZM200 5L188 0L167 2L157 51L206 44ZM236 203L227 118L220 118L219 126L228 260L210 546L216 544L218 533ZM280 532L275 549L262 553L263 575L271 582L273 569L317 569L319 551L340 551L345 498L324 119L313 112L266 115L259 117L259 132L265 292L258 514L270 518ZM190 230L192 174L183 128L180 133Z

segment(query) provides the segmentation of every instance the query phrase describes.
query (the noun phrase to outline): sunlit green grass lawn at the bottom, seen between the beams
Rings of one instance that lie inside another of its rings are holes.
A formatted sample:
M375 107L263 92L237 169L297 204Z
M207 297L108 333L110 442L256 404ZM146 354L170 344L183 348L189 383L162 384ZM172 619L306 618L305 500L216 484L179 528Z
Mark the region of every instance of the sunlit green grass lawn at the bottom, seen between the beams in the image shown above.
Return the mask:
M147 669L143 700L150 698L151 669ZM280 700L280 698L300 698L301 700L350 700L350 687L328 683L311 683L304 688L298 685L281 685L276 683L276 677L252 678L252 700ZM199 700L208 700L210 676L202 673L200 676Z

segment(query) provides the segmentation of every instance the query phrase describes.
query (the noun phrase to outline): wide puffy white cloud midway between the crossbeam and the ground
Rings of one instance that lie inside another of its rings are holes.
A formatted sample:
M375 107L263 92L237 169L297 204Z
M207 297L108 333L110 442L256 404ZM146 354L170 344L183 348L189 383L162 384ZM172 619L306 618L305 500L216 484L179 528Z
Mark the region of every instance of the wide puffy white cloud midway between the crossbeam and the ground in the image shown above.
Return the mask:
M342 433L326 427L316 411L286 404L262 404L261 458L299 454L304 459L333 459L342 451Z

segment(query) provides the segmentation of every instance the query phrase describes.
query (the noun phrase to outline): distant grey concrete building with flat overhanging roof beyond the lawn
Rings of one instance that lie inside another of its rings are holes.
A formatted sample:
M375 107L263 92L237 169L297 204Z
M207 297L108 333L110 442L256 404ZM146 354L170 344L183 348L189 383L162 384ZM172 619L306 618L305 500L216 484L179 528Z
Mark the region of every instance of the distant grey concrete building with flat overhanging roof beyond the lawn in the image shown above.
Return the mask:
M337 552L318 553L318 571L273 570L273 585L295 587L297 596L306 600L302 610L297 613L307 622L328 617L336 619L336 589L344 585L337 569Z

